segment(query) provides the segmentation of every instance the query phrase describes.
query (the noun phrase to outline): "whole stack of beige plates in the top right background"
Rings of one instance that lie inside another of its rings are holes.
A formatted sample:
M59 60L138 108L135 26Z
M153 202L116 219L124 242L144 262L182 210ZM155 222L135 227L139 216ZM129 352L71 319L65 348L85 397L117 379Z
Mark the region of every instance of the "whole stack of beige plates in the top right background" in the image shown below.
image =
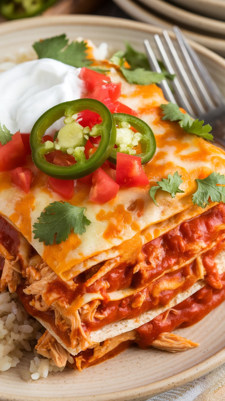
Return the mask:
M225 0L114 0L136 20L180 26L188 37L225 57Z

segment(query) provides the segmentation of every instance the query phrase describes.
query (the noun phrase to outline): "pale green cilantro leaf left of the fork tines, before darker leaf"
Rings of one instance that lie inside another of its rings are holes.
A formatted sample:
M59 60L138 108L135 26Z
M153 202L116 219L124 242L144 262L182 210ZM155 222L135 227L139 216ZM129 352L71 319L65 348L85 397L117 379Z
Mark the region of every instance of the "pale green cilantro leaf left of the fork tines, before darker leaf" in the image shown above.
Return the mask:
M150 83L160 83L165 78L163 73L154 71L146 71L144 68L136 68L134 71L120 67L124 77L129 83L137 83L138 85L150 85Z

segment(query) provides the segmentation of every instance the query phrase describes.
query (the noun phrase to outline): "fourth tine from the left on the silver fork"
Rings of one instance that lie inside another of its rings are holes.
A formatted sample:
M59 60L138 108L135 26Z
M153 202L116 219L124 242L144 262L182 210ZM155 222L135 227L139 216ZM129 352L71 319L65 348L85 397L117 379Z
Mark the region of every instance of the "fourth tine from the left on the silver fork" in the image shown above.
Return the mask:
M177 41L178 41L178 45L180 47L180 50L184 56L184 59L186 61L186 64L189 68L189 71L193 77L193 80L195 81L195 85L198 87L199 89L199 93L200 95L203 97L205 104L207 105L207 107L209 107L209 109L215 109L215 105L213 104L213 102L211 101L211 98L209 97L208 92L205 89L205 86L203 85L201 78L199 77L199 74L197 73L197 70L195 69L195 66L191 60L191 57L186 49L186 46L184 45L183 42L183 38L180 35L180 30L179 28L177 28L176 26L174 26L173 28L174 33L176 35Z

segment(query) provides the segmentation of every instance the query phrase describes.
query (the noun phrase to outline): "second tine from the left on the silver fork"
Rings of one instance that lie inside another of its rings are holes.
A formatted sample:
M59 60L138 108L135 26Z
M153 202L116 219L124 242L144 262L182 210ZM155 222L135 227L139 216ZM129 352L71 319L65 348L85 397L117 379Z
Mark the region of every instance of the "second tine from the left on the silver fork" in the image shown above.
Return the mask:
M175 74L175 71L170 63L170 60L166 54L166 51L164 49L164 46L162 44L162 41L160 39L160 37L158 36L158 34L154 35L156 44L158 46L158 50L160 52L160 55L162 57L162 61L167 69L167 71L170 74ZM178 98L178 102L181 105L181 107L183 107L189 114L191 115L195 115L195 112L193 111L193 108L191 107L188 99L186 98L184 91L182 89L182 87L180 86L180 82L178 81L177 77L174 77L173 81L171 82L171 85L174 87L176 96Z

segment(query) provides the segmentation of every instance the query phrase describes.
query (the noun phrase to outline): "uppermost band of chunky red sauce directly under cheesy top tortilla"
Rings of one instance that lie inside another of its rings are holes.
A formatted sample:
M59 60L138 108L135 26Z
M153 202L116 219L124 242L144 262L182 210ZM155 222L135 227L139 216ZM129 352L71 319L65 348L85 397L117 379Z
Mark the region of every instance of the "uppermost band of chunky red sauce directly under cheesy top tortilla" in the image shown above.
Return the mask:
M135 263L122 262L87 287L85 282L96 273L96 266L84 271L74 279L74 282L78 284L75 297L86 292L99 292L107 300L108 292L148 285L163 271L181 263L184 264L185 261L188 262L214 241L221 241L225 237L224 224L225 204L219 203L200 216L185 221L168 233L143 245L144 263L136 273L133 273L133 268L137 261ZM212 267L207 267L213 274Z

